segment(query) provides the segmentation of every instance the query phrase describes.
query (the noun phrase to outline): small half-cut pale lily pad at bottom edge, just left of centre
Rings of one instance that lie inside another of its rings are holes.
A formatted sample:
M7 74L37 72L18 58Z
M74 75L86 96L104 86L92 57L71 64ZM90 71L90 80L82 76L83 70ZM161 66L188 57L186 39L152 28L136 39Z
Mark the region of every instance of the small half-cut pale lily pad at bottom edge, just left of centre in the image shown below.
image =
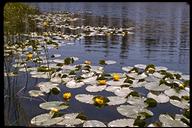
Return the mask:
M98 120L85 121L83 127L107 127L103 122Z

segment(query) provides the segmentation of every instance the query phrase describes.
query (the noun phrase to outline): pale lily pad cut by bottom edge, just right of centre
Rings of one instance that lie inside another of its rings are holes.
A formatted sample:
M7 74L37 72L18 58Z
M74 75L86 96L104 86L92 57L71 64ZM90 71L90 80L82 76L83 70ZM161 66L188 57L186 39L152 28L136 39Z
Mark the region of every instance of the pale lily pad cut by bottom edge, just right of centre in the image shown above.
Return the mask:
M108 123L108 127L133 127L134 119L117 119Z

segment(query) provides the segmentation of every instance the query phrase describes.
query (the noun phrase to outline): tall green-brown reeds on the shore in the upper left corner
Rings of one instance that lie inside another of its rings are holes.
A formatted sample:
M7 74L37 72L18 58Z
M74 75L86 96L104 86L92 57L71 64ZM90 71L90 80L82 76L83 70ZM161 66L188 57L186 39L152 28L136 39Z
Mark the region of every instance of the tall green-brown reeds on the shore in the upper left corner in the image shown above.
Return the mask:
M38 8L25 3L6 3L3 12L4 36L7 39L5 42L9 42L9 39L14 38L13 35L30 32L35 23L33 23L29 15L34 14L40 14Z

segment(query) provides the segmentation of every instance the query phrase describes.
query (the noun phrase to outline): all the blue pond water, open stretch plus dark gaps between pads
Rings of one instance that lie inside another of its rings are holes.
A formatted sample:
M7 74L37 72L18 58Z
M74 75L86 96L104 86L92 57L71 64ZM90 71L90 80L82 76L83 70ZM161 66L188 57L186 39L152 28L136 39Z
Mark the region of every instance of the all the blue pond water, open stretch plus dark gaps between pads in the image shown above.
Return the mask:
M75 64L85 60L92 61L92 65L98 65L99 60L115 60L117 63L105 67L105 72L122 73L123 66L135 64L155 64L167 67L169 70L189 74L189 5L187 3L30 3L42 12L67 11L79 13L85 18L81 25L90 26L116 26L134 27L130 34L125 37L114 38L85 38L78 41L68 41L68 44L58 49L50 49L51 54L61 54L61 59L68 56L78 57ZM9 65L9 62L7 62ZM31 126L30 120L47 112L39 108L43 101L31 100L29 90L39 82L46 79L31 78L29 74L21 72L17 77L6 81L5 87L5 125ZM7 86L11 87L8 88ZM21 90L26 86L23 90ZM7 91L10 89L9 91ZM18 92L21 90L20 92ZM62 91L70 91L73 96L86 92L85 87L69 89L61 86ZM135 89L136 90L136 89ZM137 88L146 96L148 90ZM8 93L9 92L9 93ZM113 95L102 91L100 95ZM45 97L49 100L61 98L58 96ZM107 106L96 109L93 105L77 102L73 97L69 109L65 113L83 112L88 119L108 122L125 118L120 115L116 106ZM155 115L147 119L147 123L158 120L161 113L182 113L181 109L170 103L158 104L149 109Z

